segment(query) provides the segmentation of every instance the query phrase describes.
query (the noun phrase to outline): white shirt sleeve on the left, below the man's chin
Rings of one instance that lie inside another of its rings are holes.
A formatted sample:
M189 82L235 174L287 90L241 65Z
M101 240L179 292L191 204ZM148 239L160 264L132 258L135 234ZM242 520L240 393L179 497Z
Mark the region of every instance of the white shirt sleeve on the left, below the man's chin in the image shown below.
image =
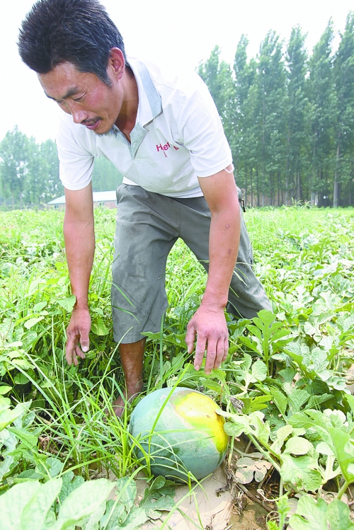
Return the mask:
M59 178L68 190L81 190L91 182L94 156L87 143L85 130L78 125L74 129L65 116L57 133L57 150Z

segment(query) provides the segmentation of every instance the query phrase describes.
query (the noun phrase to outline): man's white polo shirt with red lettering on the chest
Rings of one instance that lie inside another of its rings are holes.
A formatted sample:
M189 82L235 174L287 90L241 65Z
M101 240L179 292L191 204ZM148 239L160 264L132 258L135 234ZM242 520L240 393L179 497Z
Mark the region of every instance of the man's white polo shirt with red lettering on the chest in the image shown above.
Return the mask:
M91 181L93 160L105 156L123 183L169 197L200 197L198 177L229 166L232 154L215 103L200 76L166 75L132 57L137 81L137 121L127 141L118 127L98 135L64 114L57 135L59 175L65 188Z

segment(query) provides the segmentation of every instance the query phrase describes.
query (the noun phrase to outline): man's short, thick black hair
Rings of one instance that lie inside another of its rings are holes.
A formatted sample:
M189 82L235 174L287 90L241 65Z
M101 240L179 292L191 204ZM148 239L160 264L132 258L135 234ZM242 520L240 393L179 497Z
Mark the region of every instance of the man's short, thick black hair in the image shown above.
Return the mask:
M39 0L22 22L18 51L38 74L71 62L110 86L110 49L118 47L126 62L118 28L98 0Z

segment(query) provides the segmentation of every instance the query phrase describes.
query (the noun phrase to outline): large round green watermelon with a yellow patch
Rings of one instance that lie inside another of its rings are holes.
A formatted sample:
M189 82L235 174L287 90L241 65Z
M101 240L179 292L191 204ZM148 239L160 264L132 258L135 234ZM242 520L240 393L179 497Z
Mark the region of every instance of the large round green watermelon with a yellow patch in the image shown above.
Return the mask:
M149 454L153 475L187 482L189 472L192 480L199 480L226 456L224 418L216 413L215 401L203 393L182 387L170 398L169 393L171 388L161 388L139 401L130 418L130 433ZM140 449L137 456L144 462Z

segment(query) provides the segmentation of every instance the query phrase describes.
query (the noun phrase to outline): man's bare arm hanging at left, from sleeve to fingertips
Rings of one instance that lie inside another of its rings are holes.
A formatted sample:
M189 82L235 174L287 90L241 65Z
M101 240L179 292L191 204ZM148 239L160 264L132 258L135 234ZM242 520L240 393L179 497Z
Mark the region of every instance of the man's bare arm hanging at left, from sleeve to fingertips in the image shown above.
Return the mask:
M88 295L95 253L91 183L82 190L65 189L64 241L72 294L76 296L76 304L67 327L65 357L69 364L74 362L76 366L77 357L84 359L83 352L89 351L91 328Z

